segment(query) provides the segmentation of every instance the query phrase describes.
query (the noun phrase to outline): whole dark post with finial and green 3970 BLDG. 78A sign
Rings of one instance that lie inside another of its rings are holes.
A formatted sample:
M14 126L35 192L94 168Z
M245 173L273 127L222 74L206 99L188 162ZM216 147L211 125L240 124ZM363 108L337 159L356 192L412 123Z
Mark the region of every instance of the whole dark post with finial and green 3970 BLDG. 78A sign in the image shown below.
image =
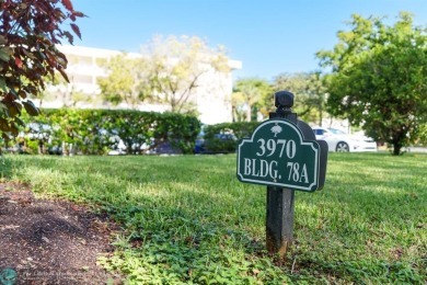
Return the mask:
M295 191L323 187L327 145L292 113L292 93L277 92L275 105L269 119L240 140L236 174L241 182L267 185L266 248L284 258L293 240Z

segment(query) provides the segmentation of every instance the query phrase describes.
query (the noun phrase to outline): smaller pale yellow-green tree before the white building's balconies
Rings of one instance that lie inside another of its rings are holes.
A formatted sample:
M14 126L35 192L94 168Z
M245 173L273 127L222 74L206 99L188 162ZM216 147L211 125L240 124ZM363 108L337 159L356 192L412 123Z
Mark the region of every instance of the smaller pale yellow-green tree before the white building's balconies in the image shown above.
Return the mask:
M126 102L135 107L149 96L147 60L123 53L103 62L108 76L97 79L103 99L117 105Z

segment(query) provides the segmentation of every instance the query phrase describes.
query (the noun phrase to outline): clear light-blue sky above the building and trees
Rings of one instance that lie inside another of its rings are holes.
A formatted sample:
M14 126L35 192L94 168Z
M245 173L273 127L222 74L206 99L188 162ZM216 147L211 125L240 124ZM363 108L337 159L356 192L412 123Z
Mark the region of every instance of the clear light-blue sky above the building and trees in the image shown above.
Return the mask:
M321 70L315 53L332 49L336 33L357 13L414 14L427 26L426 0L72 0L88 18L74 45L138 53L154 35L198 36L242 61L234 79L274 80L281 73Z

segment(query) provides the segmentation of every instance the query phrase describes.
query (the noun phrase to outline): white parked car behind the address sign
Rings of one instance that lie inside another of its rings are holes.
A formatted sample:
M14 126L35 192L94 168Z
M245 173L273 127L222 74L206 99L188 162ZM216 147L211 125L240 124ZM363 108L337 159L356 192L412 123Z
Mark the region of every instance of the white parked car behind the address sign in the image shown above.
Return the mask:
M377 142L372 138L349 135L336 128L313 127L312 129L316 139L322 139L327 142L330 151L377 151Z

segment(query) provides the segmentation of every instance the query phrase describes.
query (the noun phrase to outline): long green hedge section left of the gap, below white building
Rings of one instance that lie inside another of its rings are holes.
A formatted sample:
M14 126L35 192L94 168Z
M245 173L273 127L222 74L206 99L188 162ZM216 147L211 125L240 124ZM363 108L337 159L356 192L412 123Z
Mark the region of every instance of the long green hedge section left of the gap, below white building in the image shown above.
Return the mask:
M74 153L104 155L122 140L126 153L149 152L164 144L176 152L192 153L200 130L196 117L168 112L57 109L23 118L26 127L19 140L28 152L65 145Z

